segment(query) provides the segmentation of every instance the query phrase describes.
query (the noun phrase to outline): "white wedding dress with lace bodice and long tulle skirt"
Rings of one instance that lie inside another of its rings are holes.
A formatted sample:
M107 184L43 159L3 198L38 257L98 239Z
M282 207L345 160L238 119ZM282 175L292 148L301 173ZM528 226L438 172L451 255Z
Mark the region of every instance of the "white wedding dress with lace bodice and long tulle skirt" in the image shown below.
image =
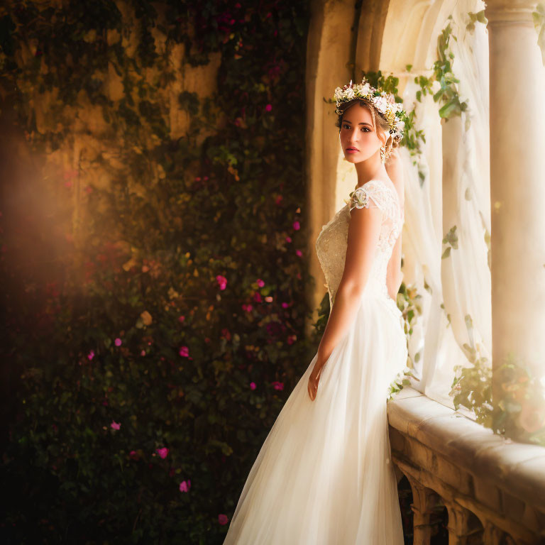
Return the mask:
M334 304L351 210L378 207L382 227L356 319L307 391L316 356L282 407L241 492L224 545L402 545L386 403L407 363L402 313L386 268L403 224L392 184L370 180L350 194L316 238Z

